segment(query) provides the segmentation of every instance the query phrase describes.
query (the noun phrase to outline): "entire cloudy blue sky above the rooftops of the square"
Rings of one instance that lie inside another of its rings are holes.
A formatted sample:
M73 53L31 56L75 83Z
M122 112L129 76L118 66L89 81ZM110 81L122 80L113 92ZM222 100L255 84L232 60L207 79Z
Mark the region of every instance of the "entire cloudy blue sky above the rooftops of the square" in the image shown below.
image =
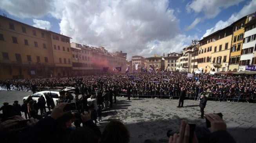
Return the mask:
M71 41L144 57L180 52L256 11L256 0L1 0L0 13Z

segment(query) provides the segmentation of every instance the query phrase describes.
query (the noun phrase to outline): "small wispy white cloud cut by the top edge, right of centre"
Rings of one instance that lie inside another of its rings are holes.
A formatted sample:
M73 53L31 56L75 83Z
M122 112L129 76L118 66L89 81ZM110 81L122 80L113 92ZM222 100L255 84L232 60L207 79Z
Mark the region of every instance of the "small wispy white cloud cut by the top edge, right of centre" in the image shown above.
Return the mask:
M194 11L195 13L203 12L205 18L214 18L221 9L228 8L233 5L238 5L244 0L193 0L186 5L187 12Z

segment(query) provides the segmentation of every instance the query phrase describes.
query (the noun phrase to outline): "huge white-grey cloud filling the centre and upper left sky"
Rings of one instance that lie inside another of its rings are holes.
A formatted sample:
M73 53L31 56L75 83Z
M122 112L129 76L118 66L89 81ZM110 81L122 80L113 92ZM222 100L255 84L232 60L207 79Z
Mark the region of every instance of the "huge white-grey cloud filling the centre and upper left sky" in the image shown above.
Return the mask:
M0 4L9 7L0 8L22 18L48 14L60 20L61 33L73 38L72 41L104 46L110 52L122 50L128 53L128 59L138 54L178 52L188 38L180 34L179 20L174 10L168 8L168 0L13 1L2 0ZM159 44L153 45L154 41Z

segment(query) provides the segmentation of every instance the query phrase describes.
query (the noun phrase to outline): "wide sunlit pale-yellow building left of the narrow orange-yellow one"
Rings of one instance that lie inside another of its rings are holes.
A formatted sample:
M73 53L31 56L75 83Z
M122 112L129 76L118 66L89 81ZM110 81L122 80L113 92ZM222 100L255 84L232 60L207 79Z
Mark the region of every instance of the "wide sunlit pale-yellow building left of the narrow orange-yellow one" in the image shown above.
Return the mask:
M200 40L199 63L203 72L227 71L232 39L232 26L218 30Z

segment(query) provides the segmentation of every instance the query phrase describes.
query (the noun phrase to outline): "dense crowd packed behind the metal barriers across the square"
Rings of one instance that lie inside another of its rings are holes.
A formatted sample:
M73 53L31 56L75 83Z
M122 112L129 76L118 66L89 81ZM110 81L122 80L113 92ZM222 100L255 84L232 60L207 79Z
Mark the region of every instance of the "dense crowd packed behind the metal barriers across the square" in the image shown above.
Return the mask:
M0 86L18 90L53 89L67 87L85 88L95 95L96 88L103 93L103 87L115 87L120 91L131 91L131 95L160 95L161 98L178 97L184 86L187 97L199 99L201 94L219 100L240 101L255 99L256 81L248 75L208 75L187 77L187 73L129 73L112 75L91 75L83 77L10 79L0 80ZM82 87L83 86L83 87ZM129 90L127 90L129 89ZM159 96L158 96L159 97Z

